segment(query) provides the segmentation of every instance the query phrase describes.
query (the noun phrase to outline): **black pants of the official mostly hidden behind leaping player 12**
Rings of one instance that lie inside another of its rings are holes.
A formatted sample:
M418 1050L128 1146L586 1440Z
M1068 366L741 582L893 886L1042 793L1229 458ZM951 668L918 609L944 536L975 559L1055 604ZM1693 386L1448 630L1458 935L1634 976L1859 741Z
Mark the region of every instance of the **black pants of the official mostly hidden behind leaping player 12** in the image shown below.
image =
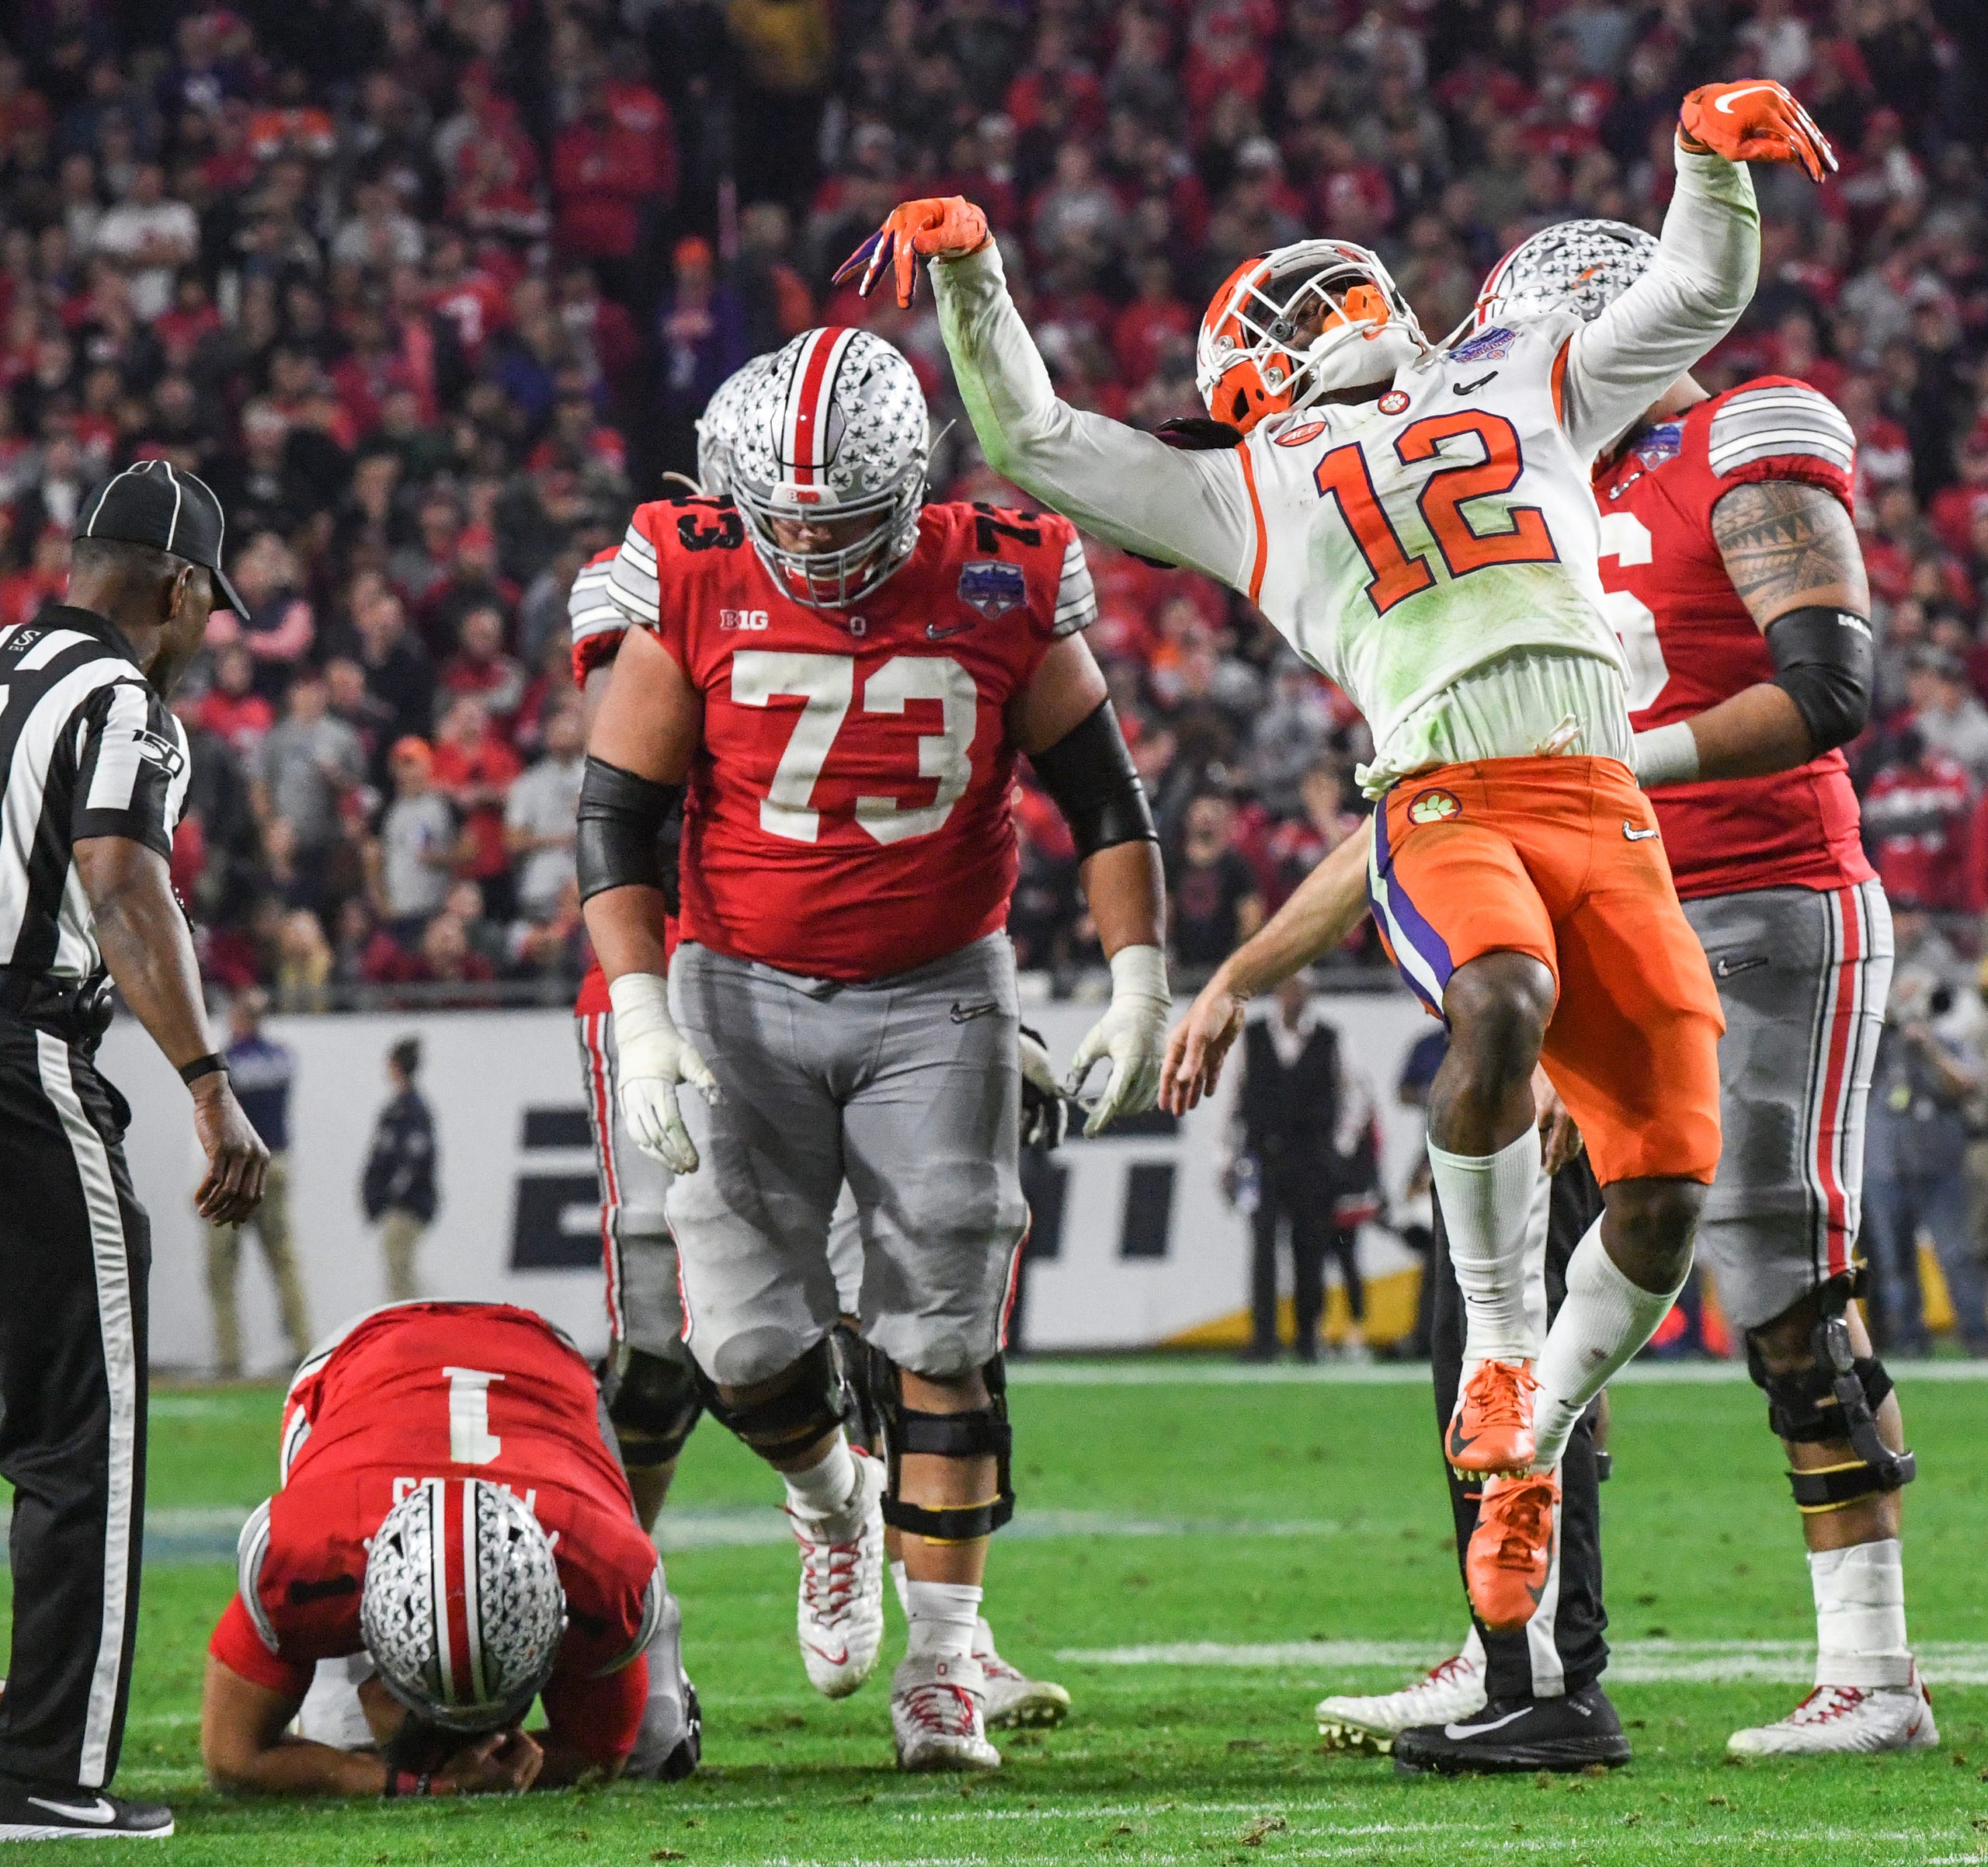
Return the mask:
M1553 1316L1567 1296L1567 1261L1600 1217L1602 1189L1586 1155L1563 1167L1553 1177L1553 1213L1547 1221L1547 1314ZM1441 1201L1435 1207L1435 1251L1429 1253L1429 1274L1435 1278L1435 1312L1431 1316L1435 1372L1435 1434L1441 1445L1449 1416L1457 1406L1457 1386L1463 1380L1463 1292L1449 1263L1449 1235L1443 1231ZM1465 1483L1443 1461L1449 1481L1449 1509L1457 1519L1457 1567L1471 1531L1477 1529L1481 1483ZM1600 1678L1608 1664L1608 1642L1602 1638L1608 1614L1602 1609L1602 1499L1600 1465L1594 1451L1594 1410L1574 1426L1561 1459L1561 1521L1559 1549L1547 1571L1547 1593L1533 1618L1509 1634L1493 1634L1477 1622L1485 1642L1485 1692L1491 1698L1557 1698L1578 1692ZM1465 1593L1469 1593L1465 1589Z

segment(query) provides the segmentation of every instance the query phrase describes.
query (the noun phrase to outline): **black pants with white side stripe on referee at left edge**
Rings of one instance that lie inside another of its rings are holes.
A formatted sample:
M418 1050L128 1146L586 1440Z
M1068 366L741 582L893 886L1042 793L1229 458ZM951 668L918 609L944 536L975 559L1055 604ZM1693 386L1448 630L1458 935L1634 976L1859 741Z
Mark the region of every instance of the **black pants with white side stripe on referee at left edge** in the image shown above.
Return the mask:
M131 1111L87 1052L0 1014L0 1475L14 1652L0 1776L117 1770L145 1527L145 1276Z

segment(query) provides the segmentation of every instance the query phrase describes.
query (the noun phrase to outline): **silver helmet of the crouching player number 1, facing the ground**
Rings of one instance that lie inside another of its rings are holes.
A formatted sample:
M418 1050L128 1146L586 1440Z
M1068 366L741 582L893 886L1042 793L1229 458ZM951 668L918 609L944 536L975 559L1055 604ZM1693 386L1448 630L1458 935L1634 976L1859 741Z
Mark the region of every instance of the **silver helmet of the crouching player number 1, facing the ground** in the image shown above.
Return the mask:
M360 1634L386 1688L451 1732L515 1724L553 1676L567 1591L539 1521L481 1477L429 1477L374 1531Z

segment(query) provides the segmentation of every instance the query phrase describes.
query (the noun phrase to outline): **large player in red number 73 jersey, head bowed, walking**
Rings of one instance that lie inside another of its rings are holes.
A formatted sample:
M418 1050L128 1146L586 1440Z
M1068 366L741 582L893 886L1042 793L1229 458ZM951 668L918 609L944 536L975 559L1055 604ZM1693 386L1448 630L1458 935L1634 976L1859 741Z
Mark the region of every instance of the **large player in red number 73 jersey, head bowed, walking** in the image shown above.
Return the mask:
M922 505L924 396L869 332L781 350L742 412L736 503L636 513L580 799L620 1107L668 1195L708 1404L787 1481L803 1660L875 1666L883 1523L905 1539L905 1768L994 1768L972 1656L1012 1509L1000 1340L1026 1207L1010 789L1028 754L1079 851L1113 996L1074 1086L1089 1131L1151 1107L1165 1040L1151 813L1081 630L1062 519ZM656 825L682 793L682 944L664 986ZM702 1098L678 1103L678 1084ZM702 1165L700 1165L702 1163ZM829 1221L847 1177L887 1457L843 1436Z

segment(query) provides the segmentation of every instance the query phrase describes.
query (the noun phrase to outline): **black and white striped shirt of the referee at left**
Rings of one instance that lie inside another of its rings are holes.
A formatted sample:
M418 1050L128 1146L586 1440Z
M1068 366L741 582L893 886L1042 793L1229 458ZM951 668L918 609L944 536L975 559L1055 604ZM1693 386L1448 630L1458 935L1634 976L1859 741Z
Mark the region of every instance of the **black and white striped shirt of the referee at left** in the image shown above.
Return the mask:
M76 845L171 857L189 773L187 734L113 622L56 604L0 630L0 964L103 970Z

